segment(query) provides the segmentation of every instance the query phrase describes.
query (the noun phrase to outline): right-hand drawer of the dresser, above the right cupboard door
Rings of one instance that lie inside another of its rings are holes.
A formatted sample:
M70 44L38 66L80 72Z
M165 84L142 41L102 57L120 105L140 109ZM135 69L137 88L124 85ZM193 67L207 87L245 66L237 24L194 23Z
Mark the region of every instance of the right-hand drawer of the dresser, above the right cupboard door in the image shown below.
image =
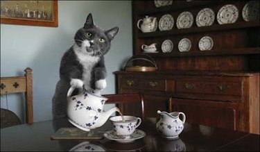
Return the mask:
M176 81L175 91L191 94L218 94L241 96L241 82Z

